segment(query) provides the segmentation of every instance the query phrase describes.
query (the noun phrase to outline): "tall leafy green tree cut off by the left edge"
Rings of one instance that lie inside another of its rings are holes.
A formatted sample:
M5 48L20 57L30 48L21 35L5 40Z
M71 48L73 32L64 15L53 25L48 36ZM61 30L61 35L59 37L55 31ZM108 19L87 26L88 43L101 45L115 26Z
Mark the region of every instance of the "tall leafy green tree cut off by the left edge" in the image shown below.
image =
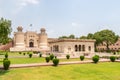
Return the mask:
M9 35L12 32L11 21L1 18L0 19L0 43L6 44L9 42Z

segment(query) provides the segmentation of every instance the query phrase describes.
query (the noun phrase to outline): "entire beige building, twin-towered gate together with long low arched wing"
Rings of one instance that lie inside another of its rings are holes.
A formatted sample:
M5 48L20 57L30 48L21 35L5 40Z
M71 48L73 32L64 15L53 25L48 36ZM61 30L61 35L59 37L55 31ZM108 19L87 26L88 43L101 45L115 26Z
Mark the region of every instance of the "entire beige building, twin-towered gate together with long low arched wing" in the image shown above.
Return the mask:
M94 53L95 40L48 38L44 28L41 28L40 33L23 32L21 26L17 30L10 51L49 51L72 55Z

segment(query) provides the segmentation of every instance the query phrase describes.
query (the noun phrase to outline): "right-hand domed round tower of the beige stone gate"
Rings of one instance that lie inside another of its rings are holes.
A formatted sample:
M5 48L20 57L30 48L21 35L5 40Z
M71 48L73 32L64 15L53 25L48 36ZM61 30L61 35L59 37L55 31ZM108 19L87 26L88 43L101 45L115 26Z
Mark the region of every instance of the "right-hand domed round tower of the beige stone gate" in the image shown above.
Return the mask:
M45 28L41 28L41 33L39 35L39 48L41 50L48 49L48 42L47 42L47 33L45 32Z

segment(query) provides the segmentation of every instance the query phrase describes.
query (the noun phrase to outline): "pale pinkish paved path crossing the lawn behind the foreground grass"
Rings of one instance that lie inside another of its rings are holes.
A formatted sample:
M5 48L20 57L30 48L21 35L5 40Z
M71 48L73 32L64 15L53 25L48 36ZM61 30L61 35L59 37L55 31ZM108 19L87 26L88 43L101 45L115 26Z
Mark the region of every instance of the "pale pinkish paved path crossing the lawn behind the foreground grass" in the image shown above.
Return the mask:
M117 62L120 62L120 60L116 60ZM70 62L60 62L59 65L68 65L68 64L86 64L86 63L92 63L92 60L87 61L70 61ZM109 59L101 59L99 62L110 62ZM32 64L12 64L10 65L10 68L25 68L25 67L38 67L38 66L52 66L53 63L32 63ZM3 66L0 66L0 69L2 69Z

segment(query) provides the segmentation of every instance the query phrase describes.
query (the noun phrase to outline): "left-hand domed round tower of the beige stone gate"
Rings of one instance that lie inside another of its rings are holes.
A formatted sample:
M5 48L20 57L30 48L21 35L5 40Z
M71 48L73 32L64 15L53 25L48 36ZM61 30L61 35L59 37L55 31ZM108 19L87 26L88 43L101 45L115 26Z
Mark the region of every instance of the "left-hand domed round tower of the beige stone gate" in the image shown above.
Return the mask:
M24 43L24 33L22 32L23 28L21 26L18 26L17 32L14 33L14 46L15 47L25 47Z

